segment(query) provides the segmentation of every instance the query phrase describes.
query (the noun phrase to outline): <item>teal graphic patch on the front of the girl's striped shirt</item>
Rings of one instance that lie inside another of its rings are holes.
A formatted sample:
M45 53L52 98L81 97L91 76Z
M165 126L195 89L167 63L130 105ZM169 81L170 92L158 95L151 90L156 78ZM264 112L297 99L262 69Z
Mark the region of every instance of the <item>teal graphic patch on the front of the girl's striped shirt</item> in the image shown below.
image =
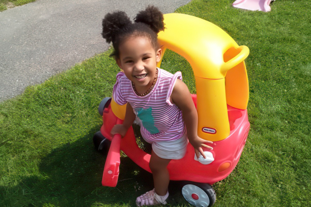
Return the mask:
M156 134L160 131L155 127L155 122L152 116L152 108L135 108L137 117L142 121L142 126L150 132Z

